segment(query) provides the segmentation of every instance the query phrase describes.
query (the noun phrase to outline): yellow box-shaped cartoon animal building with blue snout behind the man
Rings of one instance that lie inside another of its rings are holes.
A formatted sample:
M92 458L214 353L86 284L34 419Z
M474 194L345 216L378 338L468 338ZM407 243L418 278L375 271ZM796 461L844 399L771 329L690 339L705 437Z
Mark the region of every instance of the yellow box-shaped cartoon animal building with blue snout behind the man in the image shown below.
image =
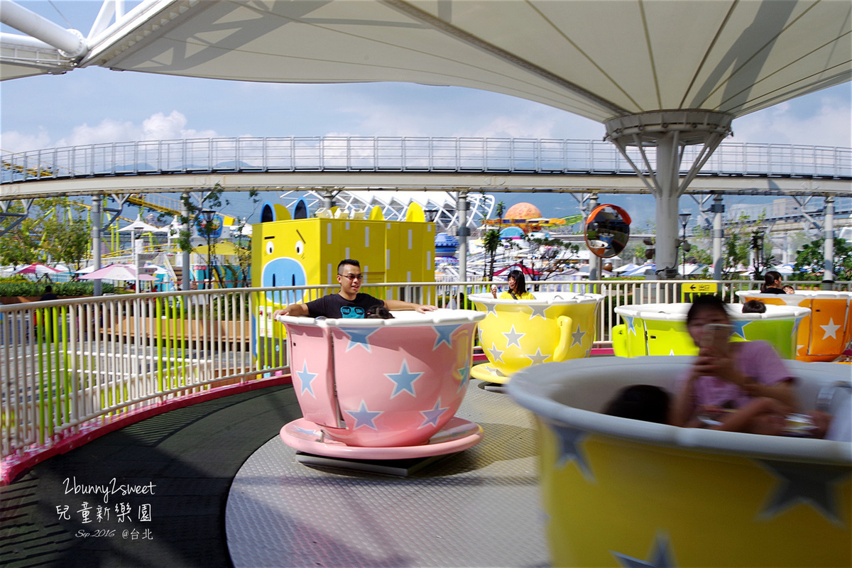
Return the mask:
M418 204L406 221L385 221L380 208L346 213L320 209L309 217L300 200L293 211L264 204L261 222L252 225L251 282L255 287L337 285L337 264L360 261L364 288L384 282L435 282L435 223L426 222ZM263 367L279 366L284 328L272 313L297 301L310 301L334 290L266 290L256 296L256 355ZM408 300L406 298L406 300Z

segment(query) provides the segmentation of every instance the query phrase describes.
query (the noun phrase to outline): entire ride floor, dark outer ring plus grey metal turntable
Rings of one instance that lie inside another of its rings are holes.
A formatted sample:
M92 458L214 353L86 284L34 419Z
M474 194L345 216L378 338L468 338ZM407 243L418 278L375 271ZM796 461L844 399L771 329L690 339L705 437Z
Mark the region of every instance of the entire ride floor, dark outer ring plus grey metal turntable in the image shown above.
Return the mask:
M0 488L0 565L547 565L532 418L483 386L457 415L481 444L408 478L295 462L278 437L301 416L291 387L153 416Z

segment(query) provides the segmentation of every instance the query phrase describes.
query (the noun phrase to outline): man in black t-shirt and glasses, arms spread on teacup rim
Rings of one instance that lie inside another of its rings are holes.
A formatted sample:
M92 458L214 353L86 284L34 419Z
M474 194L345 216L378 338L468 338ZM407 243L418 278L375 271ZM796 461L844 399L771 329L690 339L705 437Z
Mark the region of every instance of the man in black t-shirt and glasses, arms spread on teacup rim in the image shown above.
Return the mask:
M311 318L365 318L367 312L377 307L389 310L416 310L418 313L432 312L435 306L415 304L410 301L379 300L358 290L364 281L359 261L346 259L337 265L337 282L340 291L307 303L296 303L275 310L275 316L308 316Z

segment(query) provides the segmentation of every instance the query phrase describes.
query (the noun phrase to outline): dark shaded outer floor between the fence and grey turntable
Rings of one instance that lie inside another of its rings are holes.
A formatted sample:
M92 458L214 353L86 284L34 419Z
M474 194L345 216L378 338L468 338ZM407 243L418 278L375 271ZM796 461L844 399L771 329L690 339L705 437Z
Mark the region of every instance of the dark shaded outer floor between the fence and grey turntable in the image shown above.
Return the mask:
M291 387L267 387L171 410L51 457L0 487L0 565L231 566L233 476L298 416ZM92 485L107 485L106 503L102 492L86 492ZM146 492L123 496L131 485Z

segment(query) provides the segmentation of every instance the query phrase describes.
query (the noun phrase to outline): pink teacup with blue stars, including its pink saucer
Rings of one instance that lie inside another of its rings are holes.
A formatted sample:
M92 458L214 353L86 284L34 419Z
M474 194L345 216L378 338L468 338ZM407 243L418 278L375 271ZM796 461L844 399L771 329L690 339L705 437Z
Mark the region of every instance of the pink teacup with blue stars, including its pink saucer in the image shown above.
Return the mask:
M440 456L479 443L455 416L484 313L392 312L391 319L279 316L302 418L281 439L318 456L383 460Z

